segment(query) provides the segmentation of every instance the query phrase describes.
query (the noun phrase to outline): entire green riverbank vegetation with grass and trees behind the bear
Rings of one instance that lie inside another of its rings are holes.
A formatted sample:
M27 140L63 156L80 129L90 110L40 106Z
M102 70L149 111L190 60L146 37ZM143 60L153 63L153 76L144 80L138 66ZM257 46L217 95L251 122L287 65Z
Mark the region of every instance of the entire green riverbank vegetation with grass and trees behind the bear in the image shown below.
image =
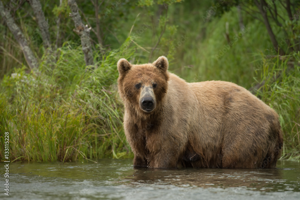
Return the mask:
M188 82L250 90L280 115L281 158L300 160L297 1L77 1L84 27L73 2L1 1L0 145L9 132L11 161L133 157L116 63L161 55Z

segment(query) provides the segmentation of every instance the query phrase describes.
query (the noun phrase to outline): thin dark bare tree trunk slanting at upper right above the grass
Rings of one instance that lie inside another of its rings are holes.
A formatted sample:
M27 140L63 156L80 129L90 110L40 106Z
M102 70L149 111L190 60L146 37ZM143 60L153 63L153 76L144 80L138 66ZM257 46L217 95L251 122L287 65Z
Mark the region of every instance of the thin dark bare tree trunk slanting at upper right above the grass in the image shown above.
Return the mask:
M270 39L271 39L271 42L272 42L274 48L276 50L278 50L278 48L279 48L279 55L284 55L285 54L284 51L282 50L281 47L278 46L278 42L276 40L276 37L275 37L275 35L274 35L273 31L272 31L271 25L270 25L269 20L268 20L268 15L267 15L267 13L264 11L264 9L262 7L263 1L264 0L260 0L260 3L259 3L257 0L254 0L254 3L256 4L256 6L259 9L260 14L262 15L263 22L265 24L265 27L267 28L268 34L270 36Z

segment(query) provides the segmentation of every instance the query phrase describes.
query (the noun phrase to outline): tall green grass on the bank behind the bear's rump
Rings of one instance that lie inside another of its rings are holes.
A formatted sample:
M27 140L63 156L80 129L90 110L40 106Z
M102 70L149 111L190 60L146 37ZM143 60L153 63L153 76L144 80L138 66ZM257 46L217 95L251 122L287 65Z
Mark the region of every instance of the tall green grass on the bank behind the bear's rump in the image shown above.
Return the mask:
M256 73L261 100L277 111L283 130L283 158L300 159L300 52L268 58Z

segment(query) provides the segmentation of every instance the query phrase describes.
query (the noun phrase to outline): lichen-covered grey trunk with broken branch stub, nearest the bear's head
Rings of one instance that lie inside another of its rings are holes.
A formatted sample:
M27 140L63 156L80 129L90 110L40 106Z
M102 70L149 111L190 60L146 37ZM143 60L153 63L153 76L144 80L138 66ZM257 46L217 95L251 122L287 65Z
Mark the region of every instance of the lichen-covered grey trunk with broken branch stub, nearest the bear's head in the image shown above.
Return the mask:
M85 65L93 65L93 54L92 54L92 45L90 40L90 28L88 25L84 26L81 17L78 13L78 6L75 0L68 0L71 12L70 16L72 17L75 28L73 31L80 36L82 51L84 53Z

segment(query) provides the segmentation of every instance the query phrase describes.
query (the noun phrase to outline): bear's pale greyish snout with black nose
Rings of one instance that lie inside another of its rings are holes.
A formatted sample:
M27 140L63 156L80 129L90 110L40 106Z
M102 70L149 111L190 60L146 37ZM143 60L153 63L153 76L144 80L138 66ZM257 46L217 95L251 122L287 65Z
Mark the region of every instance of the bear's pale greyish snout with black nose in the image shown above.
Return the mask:
M153 88L144 87L140 96L140 108L145 112L151 112L155 109L156 100Z

